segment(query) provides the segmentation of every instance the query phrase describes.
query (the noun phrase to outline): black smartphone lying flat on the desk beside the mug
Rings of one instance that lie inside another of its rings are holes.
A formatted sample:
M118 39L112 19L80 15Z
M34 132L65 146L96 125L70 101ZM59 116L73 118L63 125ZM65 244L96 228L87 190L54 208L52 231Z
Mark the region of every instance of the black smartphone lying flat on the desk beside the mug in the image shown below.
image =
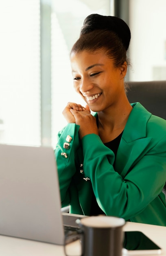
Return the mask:
M161 248L140 231L125 231L123 254L161 254Z

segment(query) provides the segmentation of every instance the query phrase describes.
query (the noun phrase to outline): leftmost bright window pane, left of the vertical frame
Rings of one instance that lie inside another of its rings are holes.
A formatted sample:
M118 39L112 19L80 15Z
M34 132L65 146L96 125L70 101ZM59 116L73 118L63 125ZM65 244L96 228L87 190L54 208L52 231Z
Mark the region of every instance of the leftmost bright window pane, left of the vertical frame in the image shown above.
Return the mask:
M0 143L40 144L40 3L0 2Z

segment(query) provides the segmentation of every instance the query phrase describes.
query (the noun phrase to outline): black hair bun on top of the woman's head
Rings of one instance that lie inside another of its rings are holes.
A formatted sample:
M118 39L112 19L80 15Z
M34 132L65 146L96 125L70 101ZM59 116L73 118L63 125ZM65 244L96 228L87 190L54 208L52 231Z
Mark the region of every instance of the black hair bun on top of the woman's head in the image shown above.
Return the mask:
M131 33L129 26L124 20L114 16L103 16L100 14L90 14L85 18L83 27L81 28L81 34L92 32L96 29L107 29L114 31L127 50L129 47Z

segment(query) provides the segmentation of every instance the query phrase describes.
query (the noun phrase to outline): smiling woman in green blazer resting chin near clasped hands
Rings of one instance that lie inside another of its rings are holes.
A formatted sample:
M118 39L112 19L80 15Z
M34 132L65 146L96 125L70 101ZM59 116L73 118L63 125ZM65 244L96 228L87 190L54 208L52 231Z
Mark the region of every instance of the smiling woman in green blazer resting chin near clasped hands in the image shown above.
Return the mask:
M92 14L72 47L74 88L87 105L63 110L68 125L55 150L61 203L70 213L166 226L166 121L127 99L130 38L120 18Z

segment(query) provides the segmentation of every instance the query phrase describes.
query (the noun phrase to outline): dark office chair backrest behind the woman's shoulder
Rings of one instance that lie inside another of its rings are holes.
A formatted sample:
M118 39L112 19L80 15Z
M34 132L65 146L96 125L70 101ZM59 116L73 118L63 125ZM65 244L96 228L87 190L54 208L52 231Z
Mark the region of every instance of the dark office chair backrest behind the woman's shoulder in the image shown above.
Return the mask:
M130 103L140 102L149 112L166 119L166 81L127 82ZM166 184L162 190L166 197Z

